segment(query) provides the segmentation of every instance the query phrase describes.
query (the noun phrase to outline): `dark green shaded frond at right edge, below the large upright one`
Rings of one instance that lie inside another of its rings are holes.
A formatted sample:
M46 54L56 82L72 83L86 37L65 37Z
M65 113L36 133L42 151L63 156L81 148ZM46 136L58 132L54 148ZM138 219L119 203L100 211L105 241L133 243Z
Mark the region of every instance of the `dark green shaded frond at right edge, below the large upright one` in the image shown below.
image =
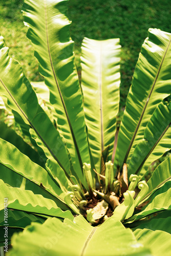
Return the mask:
M147 158L149 158L150 160L151 153L153 152L154 148L158 145L158 143L162 140L163 136L166 133L171 143L170 124L171 102L167 103L163 101L157 106L151 119L148 121L144 131L144 138L138 143L138 145L135 148L135 151L129 163L129 168L127 170L129 176L131 174L139 174L145 160ZM168 143L166 145L163 145L163 148L167 147L167 145ZM162 151L165 151L165 148L163 150L162 147L160 146L160 152Z

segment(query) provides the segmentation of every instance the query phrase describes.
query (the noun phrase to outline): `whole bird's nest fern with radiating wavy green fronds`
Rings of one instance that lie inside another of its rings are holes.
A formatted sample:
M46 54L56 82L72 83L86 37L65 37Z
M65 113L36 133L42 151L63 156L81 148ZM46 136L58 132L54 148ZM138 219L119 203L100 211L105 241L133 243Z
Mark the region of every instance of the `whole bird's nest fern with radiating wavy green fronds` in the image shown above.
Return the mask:
M31 142L0 123L9 255L169 255L170 157L144 177L171 148L171 34L149 29L118 133L119 39L83 39L80 85L66 3L24 1L45 82L27 80L1 36L1 97Z

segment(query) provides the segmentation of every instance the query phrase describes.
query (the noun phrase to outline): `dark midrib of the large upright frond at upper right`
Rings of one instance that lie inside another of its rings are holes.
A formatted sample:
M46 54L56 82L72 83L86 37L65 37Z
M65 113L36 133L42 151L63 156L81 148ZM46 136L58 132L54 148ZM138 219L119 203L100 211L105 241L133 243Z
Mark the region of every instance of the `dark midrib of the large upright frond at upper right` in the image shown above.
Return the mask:
M155 78L154 83L153 83L152 89L151 89L151 91L150 91L149 94L148 94L148 98L147 98L146 103L145 103L145 105L144 105L143 111L142 111L142 113L141 113L139 122L138 122L138 124L137 124L136 130L135 130L134 135L133 135L133 137L132 137L132 140L131 140L131 142L130 142L129 148L128 148L127 152L126 152L126 155L125 155L125 158L124 158L123 163L126 163L127 157L129 156L131 147L132 147L132 145L133 145L133 142L134 142L134 139L135 139L135 137L136 137L136 135L137 135L137 132L138 132L139 126L140 126L140 124L141 124L143 115L144 115L145 110L146 110L146 108L147 108L147 104L148 104L149 99L150 99L150 97L151 97L151 95L152 95L152 93L153 93L153 90L154 90L156 81L157 81L157 79L158 79L158 76L159 76L159 73L160 73L160 70L161 70L161 67L162 67L164 58L165 58L166 53L167 53L167 50L168 50L168 48L169 48L169 46L170 46L170 42L171 42L171 38L170 38L170 40L169 40L169 42L168 42L168 45L167 45L167 47L166 47L166 50L165 50L165 53L164 53L164 55L163 55L162 61L161 61L161 63L160 63L160 66L159 66L159 69L158 69L156 78Z

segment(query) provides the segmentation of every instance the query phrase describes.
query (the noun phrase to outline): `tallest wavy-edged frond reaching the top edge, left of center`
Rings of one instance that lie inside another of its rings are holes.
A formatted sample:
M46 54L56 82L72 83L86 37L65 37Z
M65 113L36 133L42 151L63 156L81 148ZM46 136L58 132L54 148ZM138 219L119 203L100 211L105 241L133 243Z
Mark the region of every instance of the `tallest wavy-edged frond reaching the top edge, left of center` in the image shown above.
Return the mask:
M90 163L82 95L74 65L67 1L26 0L23 15L28 38L39 61L39 72L50 90L50 102L66 139L74 168L82 177L82 163Z

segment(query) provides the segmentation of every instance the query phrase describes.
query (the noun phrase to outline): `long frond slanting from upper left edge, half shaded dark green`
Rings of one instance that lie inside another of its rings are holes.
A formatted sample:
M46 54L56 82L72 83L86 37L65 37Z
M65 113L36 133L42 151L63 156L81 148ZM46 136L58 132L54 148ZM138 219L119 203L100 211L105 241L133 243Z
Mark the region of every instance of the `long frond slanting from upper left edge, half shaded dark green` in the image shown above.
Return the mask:
M10 107L19 112L24 121L29 123L66 174L69 173L70 162L65 144L47 114L38 105L35 92L24 76L19 63L8 56L7 47L0 50L0 58L1 93L8 98ZM58 148L59 143L61 145L60 150Z

